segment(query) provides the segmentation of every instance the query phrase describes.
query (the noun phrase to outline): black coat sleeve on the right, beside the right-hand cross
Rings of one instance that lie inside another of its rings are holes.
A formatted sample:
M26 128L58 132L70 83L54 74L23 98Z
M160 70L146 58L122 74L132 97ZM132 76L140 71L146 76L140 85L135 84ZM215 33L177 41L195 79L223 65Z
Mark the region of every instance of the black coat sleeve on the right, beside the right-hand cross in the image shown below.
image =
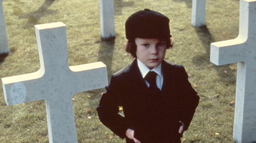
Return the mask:
M179 81L179 85L181 88L181 94L183 94L182 104L183 111L181 112L181 121L185 124L183 130L186 131L191 123L191 120L194 116L195 110L199 103L199 96L195 89L191 86L188 81L188 75L185 71L184 67L181 66L181 80Z

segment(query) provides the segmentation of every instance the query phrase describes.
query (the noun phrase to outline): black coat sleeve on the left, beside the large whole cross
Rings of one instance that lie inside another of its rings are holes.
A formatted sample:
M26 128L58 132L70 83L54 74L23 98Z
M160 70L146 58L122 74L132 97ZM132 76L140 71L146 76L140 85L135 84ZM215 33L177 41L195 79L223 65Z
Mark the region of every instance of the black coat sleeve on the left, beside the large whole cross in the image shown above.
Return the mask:
M120 78L111 76L109 85L106 86L106 92L102 95L97 112L100 121L113 131L116 135L124 139L128 126L125 118L119 115L119 105L121 102L120 88L123 85Z

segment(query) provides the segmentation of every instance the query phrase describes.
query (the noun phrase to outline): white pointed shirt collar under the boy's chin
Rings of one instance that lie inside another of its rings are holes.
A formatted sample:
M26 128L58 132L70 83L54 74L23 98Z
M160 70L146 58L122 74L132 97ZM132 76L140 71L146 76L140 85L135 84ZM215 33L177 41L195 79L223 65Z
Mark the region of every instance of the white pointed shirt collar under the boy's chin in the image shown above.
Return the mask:
M143 64L138 58L137 58L137 63L138 63L139 71L143 78L146 76L146 74L149 71L155 71L163 79L163 74L161 71L162 63L160 63L157 67L155 67L151 70L145 64Z

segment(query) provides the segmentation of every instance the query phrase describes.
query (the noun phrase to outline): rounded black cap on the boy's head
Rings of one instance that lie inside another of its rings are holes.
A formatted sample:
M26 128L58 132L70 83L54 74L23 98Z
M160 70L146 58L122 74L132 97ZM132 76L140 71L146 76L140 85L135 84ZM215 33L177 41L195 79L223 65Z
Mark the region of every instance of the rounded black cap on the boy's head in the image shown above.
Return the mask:
M170 38L169 18L150 9L135 12L125 22L125 36L135 38Z

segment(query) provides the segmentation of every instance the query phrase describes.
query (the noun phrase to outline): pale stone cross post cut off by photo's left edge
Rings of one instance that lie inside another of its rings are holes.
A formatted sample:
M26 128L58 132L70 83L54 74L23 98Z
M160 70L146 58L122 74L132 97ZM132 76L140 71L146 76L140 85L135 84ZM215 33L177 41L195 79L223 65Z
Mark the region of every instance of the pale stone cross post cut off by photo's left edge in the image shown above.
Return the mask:
M0 54L10 53L5 18L3 11L3 0L0 0Z

